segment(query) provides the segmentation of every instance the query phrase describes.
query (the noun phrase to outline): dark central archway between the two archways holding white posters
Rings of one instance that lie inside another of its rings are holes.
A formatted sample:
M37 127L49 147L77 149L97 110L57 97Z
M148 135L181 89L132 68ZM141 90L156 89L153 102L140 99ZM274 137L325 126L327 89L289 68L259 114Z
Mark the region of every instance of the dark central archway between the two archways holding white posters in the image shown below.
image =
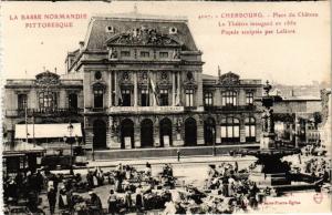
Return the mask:
M141 147L154 146L154 123L149 119L141 122Z

